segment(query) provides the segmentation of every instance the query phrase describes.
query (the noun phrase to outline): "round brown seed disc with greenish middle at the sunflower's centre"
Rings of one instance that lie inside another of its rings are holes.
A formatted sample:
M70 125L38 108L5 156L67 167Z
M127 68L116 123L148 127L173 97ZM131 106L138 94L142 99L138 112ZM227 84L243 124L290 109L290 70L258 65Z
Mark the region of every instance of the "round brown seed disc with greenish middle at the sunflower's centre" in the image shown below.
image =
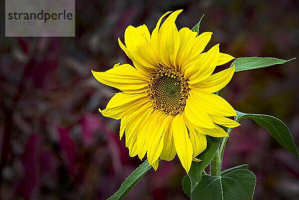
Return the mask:
M150 78L148 93L154 109L176 115L185 108L189 88L177 69L162 68Z

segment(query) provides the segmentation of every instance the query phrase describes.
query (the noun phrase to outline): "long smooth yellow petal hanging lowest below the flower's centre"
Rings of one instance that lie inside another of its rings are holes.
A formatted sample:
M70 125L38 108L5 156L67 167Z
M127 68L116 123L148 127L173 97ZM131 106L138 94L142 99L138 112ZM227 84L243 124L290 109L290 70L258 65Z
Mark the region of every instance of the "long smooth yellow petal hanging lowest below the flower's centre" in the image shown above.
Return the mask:
M188 174L192 163L193 149L181 114L178 114L173 118L171 126L173 126L172 134L177 156Z

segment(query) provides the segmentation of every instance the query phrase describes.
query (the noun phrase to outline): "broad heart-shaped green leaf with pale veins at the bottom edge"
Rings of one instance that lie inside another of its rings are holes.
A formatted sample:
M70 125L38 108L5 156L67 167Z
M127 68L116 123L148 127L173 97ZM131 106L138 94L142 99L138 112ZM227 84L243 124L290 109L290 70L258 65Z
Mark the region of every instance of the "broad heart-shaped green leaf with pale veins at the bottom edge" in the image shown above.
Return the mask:
M203 175L191 200L252 200L255 185L255 175L244 169L220 177Z

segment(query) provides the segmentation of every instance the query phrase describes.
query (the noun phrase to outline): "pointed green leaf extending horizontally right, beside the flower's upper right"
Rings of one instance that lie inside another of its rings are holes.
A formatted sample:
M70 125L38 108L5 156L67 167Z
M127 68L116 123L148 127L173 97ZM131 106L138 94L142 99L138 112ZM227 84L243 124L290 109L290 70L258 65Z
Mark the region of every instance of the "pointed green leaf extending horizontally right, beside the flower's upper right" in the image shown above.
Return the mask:
M278 59L278 58L259 58L259 57L237 58L231 64L231 67L233 65L236 65L235 72L237 72L237 71L244 71L244 70L249 70L249 69L259 69L259 68L263 68L263 67L270 67L270 66L276 65L276 64L284 64L284 63L289 62L294 59L296 59L296 58L293 58L290 60L283 60L283 59Z

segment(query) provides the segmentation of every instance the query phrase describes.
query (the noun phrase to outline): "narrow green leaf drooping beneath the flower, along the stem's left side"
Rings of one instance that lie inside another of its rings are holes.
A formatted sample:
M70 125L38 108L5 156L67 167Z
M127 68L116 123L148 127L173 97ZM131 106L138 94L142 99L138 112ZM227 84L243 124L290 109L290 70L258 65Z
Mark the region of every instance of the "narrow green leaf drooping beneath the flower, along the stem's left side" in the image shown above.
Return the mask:
M199 154L196 158L202 161L195 162L192 161L190 171L188 173L189 179L191 181L191 192L195 189L197 184L201 180L202 171L210 164L216 151L219 149L220 142L222 138L214 138L207 136L207 148Z

